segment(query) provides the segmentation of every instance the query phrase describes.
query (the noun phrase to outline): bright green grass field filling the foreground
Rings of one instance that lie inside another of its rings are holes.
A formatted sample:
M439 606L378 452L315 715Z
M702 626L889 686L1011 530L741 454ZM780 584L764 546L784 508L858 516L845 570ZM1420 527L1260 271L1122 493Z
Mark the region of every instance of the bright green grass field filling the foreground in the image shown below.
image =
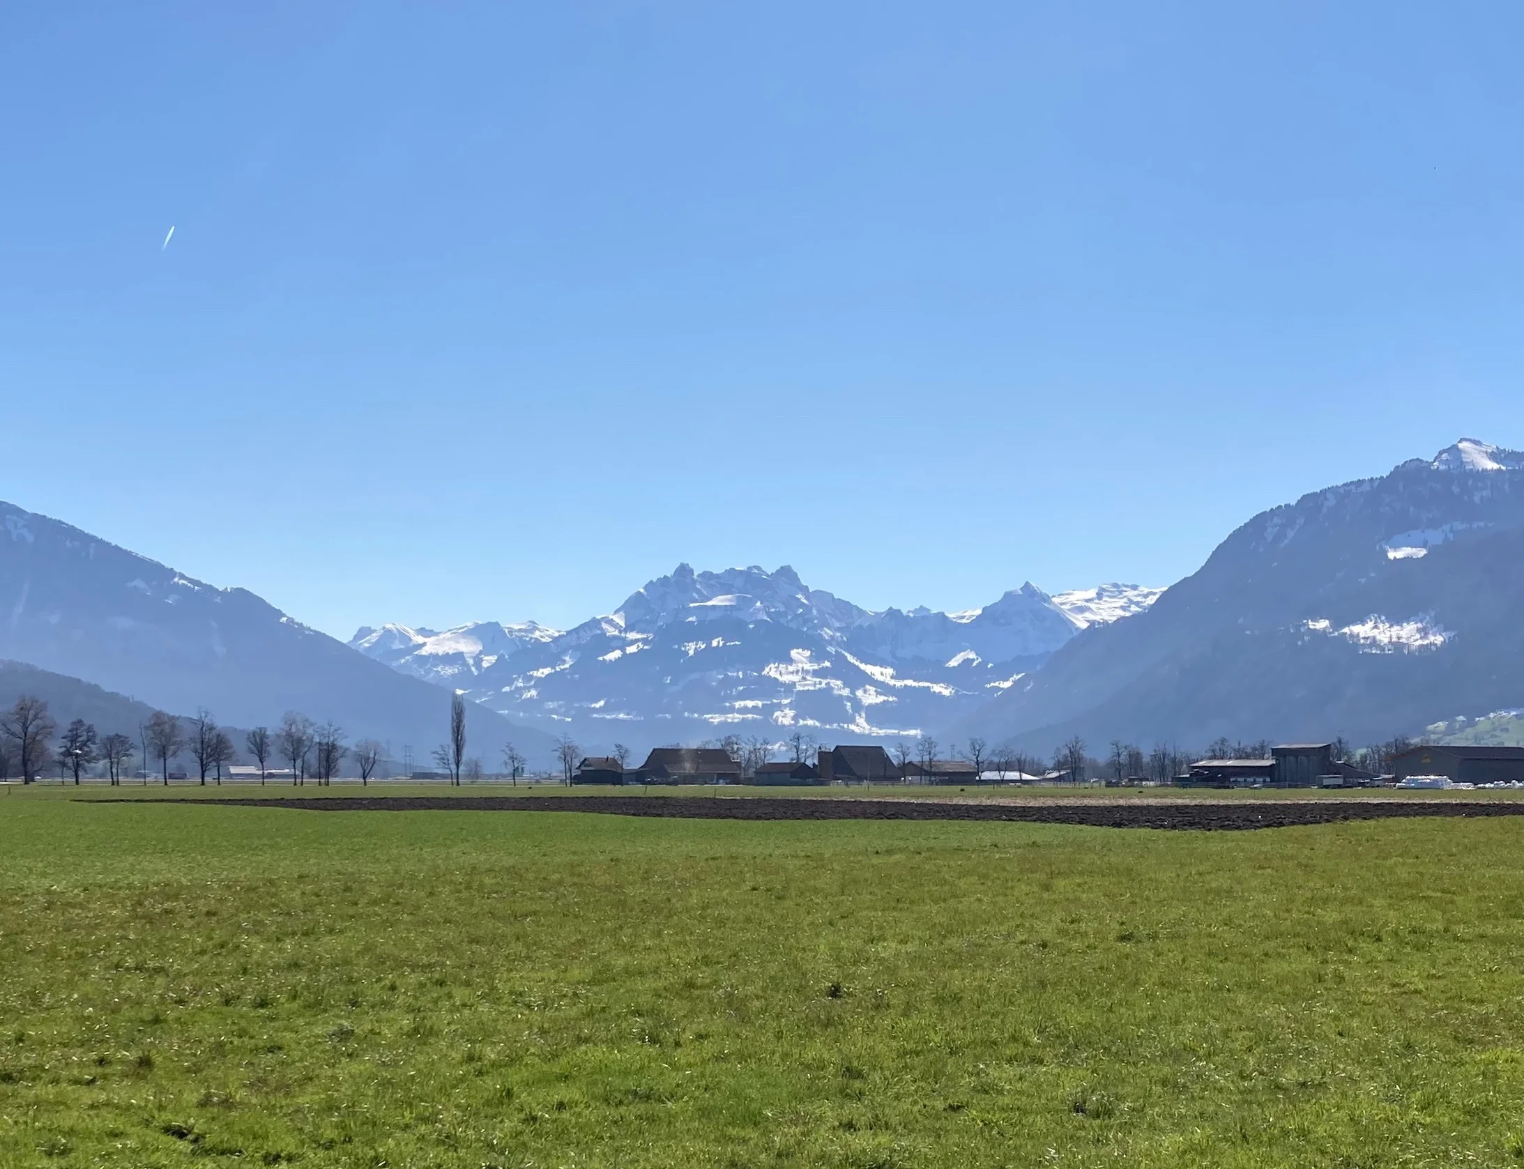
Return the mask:
M1524 1158L1513 818L73 794L0 796L3 1166Z

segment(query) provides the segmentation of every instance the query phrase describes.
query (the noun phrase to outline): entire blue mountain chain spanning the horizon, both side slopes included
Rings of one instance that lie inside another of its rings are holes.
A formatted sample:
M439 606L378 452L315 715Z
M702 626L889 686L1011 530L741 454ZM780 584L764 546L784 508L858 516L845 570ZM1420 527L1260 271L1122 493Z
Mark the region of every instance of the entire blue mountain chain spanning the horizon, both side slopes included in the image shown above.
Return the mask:
M1308 494L1167 590L1026 584L962 613L870 611L788 565L680 564L572 629L384 625L349 645L0 504L0 684L49 689L61 715L204 706L247 727L294 709L427 759L462 690L488 767L506 742L539 764L559 735L639 751L794 729L1039 751L1071 736L1490 741L1524 709L1524 454L1462 439Z

